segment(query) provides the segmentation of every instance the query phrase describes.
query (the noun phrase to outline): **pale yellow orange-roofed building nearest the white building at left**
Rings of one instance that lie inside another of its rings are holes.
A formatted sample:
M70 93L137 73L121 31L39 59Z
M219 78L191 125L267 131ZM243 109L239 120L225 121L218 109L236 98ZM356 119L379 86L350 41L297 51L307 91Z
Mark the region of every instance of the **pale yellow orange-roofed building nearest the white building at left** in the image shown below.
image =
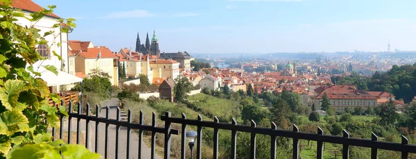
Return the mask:
M111 76L112 85L119 85L117 60L118 57L107 47L88 48L76 55L75 72L88 75L92 69L101 69Z

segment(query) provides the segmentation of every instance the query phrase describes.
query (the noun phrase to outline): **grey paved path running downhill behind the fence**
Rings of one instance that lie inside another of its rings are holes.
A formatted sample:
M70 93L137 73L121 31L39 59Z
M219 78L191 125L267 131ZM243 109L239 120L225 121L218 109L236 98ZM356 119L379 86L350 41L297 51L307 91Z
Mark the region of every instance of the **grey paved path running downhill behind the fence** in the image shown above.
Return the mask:
M105 106L110 107L110 119L116 119L116 113L117 113L117 106L119 103L119 99L113 98L108 101L103 101L101 103L101 106L103 106L103 109L99 113L100 117L105 117L106 108ZM127 115L125 112L121 112L121 120L127 121ZM71 119L71 125L72 125L72 131L76 132L76 119ZM67 130L67 121L65 121L64 130ZM85 120L81 120L80 124L80 130L85 132ZM95 151L95 122L89 122L89 149L91 151ZM116 126L110 125L108 126L108 156L107 158L115 158L115 147L116 147ZM130 158L138 158L138 148L139 148L139 137L135 131L131 131L131 137L130 137ZM119 131L119 158L126 158L126 149L127 149L127 128L120 127ZM98 153L100 153L104 157L105 152L105 124L100 123L98 124ZM150 158L150 148L143 142L142 144L142 150L141 150L141 158ZM159 156L155 156L155 158L160 159Z

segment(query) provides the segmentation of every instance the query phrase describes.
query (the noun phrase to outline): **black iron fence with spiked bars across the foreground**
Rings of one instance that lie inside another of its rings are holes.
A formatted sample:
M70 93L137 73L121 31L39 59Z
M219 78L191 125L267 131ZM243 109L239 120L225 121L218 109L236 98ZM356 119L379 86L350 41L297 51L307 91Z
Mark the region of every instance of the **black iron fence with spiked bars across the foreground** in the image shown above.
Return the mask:
M120 119L120 108L116 108L116 119L110 119L109 118L109 110L110 108L106 107L106 117L99 117L98 112L96 115L92 116L90 115L90 106L87 104L87 110L88 112L83 115L82 108L80 108L80 105L78 104L78 112L73 112L73 103L71 102L69 104L69 117L68 117L68 125L67 128L70 132L72 129L71 120L76 119L76 144L80 143L80 120L84 119L86 121L86 127L85 127L85 133L86 135L90 134L90 128L89 128L89 122L95 122L95 130L98 130L99 123L105 124L105 132L95 131L94 137L94 150L95 152L98 152L98 147L105 147L104 149L104 157L108 158L108 145L109 144L115 144L115 151L114 151L114 158L119 158L119 144L120 142L123 142L123 144L126 144L126 150L125 155L126 158L130 157L130 153L132 153L130 149L131 144L131 131L132 129L137 129L138 136L139 136L139 146L138 149L135 150L135 153L138 153L138 158L141 158L142 156L142 147L143 147L143 133L144 131L150 131L151 132L151 143L150 143L150 158L155 158L155 136L156 133L162 133L164 134L164 158L170 158L171 153L171 135L181 135L181 158L186 158L185 148L187 147L187 139L185 136L185 132L187 130L187 125L197 126L197 140L196 140L196 156L198 159L202 158L201 156L201 147L202 147L202 128L214 128L214 159L218 158L218 130L228 130L232 132L232 142L231 142L231 156L230 158L238 158L236 156L236 147L239 145L236 144L236 139L238 132L245 132L250 133L250 158L256 158L256 135L269 135L271 137L270 142L270 158L276 158L276 137L289 137L292 138L293 141L293 158L298 158L300 156L299 154L299 140L312 140L316 141L317 144L317 158L322 158L323 155L323 143L333 143L333 144L342 144L343 145L343 158L349 158L349 147L350 146L358 146L358 147L367 147L371 149L371 158L377 158L377 151L379 149L383 150L390 150L390 151L399 151L401 152L401 158L408 158L408 153L416 153L416 145L414 144L408 144L408 140L403 135L401 136L401 143L396 142L382 142L378 140L378 137L372 133L372 139L360 139L360 138L352 138L349 137L349 133L347 131L343 131L343 136L333 136L333 135L323 135L324 132L321 128L317 128L318 133L302 133L299 131L299 128L295 124L293 124L293 131L286 131L286 130L279 130L277 129L277 126L275 123L272 123L271 128L259 128L257 127L256 123L254 121L251 121L251 126L244 126L244 125L238 125L235 119L232 119L232 123L221 123L217 117L214 117L214 122L207 122L203 121L202 117L198 115L198 119L187 119L187 117L182 114L182 117L172 117L171 112L166 112L162 117L162 121L164 121L164 127L157 127L156 126L156 117L155 113L152 115L152 124L151 125L145 125L144 124L144 115L143 112L140 112L139 116L139 123L132 123L132 112L128 110L127 114L127 121L123 122ZM98 110L98 106L95 106L96 110ZM60 139L63 139L63 132L62 129L64 128L63 124L63 116L60 118ZM172 128L171 124L181 124L182 130L178 131ZM116 135L115 135L115 143L109 143L109 126L114 125L116 126ZM119 140L119 130L120 127L127 128L127 140L121 141ZM55 128L52 129L53 136L55 138ZM104 133L104 134L101 134ZM98 139L99 135L105 135L105 143L104 145L101 145L101 140ZM89 149L89 137L85 138L85 146ZM71 143L71 133L68 133L68 141Z

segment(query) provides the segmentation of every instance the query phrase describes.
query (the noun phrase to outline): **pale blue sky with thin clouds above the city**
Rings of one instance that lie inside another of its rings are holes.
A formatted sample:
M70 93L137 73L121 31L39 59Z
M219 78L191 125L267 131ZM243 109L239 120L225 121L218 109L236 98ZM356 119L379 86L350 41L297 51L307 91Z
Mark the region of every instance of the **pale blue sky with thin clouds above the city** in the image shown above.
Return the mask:
M70 40L135 49L156 31L161 52L416 50L415 0L34 0L77 27Z

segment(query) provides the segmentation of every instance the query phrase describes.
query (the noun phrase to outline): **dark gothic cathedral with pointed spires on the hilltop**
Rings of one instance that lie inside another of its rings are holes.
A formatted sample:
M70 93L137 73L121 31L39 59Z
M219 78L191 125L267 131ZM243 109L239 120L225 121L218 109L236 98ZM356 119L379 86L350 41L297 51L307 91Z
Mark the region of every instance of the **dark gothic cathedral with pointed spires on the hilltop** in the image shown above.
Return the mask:
M152 43L150 44L149 34L146 35L146 44L141 44L139 33L137 33L136 39L136 52L143 53L144 55L159 56L159 42L157 41L156 32L153 31Z

